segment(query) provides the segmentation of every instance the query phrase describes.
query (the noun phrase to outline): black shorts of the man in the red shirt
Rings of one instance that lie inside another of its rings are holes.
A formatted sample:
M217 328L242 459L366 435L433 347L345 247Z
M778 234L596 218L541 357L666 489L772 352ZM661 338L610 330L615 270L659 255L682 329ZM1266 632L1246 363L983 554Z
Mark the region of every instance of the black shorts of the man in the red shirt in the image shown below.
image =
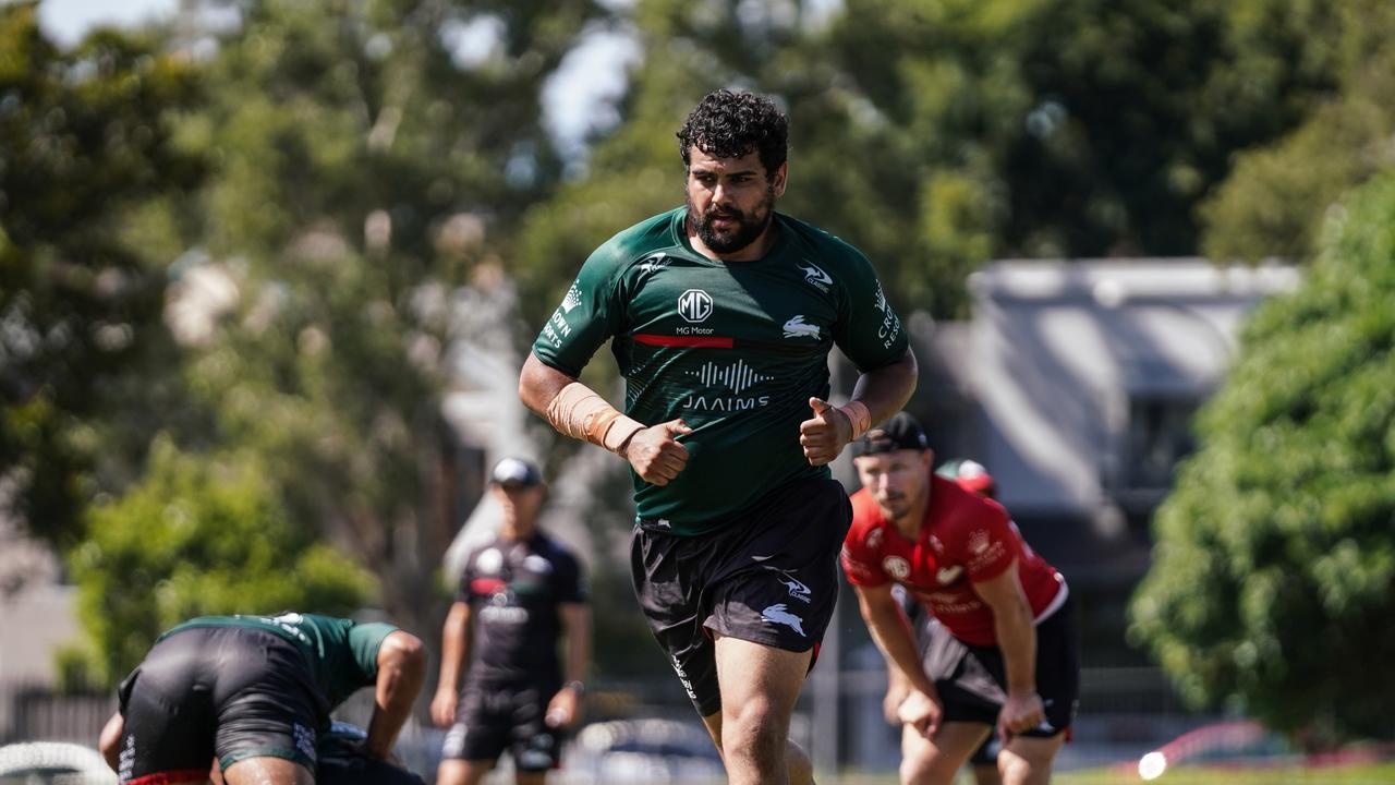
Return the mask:
M925 673L944 704L943 721L996 725L1007 689L1002 650L965 644L933 619L917 624L917 638ZM1050 738L1070 728L1080 697L1080 643L1070 598L1036 624L1036 694L1046 721L1023 736Z

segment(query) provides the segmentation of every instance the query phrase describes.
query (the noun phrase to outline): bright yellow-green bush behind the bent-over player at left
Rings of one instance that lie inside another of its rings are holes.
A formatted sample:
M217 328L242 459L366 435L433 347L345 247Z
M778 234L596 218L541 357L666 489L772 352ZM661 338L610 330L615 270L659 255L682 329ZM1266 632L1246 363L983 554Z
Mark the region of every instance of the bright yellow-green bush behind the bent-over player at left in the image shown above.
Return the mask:
M371 575L290 517L268 469L160 437L141 482L92 510L92 534L70 556L91 652L81 680L116 683L194 616L361 606Z

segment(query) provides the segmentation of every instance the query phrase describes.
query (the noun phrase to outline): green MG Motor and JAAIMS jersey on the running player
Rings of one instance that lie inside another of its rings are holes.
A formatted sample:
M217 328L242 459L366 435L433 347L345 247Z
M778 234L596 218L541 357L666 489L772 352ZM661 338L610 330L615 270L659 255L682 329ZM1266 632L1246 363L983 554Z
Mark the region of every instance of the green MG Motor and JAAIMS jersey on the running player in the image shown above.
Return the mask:
M799 423L829 397L829 352L859 370L900 360L907 338L870 263L837 237L776 214L756 261L714 261L688 243L686 208L625 229L582 265L533 344L576 377L607 339L625 376L625 413L682 418L688 465L668 485L633 475L639 518L677 535L735 524L810 467Z

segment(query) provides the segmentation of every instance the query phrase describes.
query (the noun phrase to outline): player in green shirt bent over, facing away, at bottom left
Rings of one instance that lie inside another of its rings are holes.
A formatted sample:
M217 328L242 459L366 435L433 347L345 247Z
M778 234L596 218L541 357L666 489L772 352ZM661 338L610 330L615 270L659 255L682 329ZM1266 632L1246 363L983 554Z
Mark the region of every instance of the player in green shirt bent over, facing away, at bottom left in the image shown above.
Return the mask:
M425 673L392 624L311 613L202 616L165 633L121 682L99 749L121 785L312 785L329 712L360 687L375 707L363 751L386 758Z

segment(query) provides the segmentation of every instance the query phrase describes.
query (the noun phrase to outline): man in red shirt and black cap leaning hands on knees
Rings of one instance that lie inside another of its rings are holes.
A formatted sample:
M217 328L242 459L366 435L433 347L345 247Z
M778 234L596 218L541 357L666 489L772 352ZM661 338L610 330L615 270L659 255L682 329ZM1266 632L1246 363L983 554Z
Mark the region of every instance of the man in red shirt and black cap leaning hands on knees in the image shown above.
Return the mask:
M901 781L949 785L996 728L1006 785L1045 784L1076 711L1080 665L1064 578L996 501L935 476L907 413L854 447L862 490L843 568L862 617L910 691ZM900 584L964 644L925 662L891 587Z

